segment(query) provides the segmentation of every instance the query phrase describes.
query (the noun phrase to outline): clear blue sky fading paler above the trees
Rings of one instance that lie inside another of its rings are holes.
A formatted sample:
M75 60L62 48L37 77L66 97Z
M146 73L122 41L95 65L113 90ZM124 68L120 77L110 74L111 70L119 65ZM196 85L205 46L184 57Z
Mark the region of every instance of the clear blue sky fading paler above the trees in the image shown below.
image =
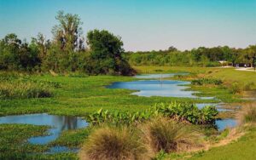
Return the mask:
M84 37L119 35L126 51L256 44L256 0L0 0L0 38L51 38L59 10L79 14Z

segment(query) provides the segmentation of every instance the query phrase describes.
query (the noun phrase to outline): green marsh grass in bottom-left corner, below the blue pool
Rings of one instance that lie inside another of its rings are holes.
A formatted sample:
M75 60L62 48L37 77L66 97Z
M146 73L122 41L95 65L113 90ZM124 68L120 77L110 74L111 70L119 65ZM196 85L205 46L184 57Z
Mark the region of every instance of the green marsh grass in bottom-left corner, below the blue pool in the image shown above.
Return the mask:
M32 145L27 139L47 135L47 126L29 124L0 124L0 159L25 157L29 152L47 151L47 146Z

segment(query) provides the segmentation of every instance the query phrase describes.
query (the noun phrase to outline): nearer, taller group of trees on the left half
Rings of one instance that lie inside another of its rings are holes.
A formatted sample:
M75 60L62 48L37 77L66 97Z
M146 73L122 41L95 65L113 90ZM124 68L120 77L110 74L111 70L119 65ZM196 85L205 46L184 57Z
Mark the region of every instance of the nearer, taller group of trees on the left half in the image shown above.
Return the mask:
M58 24L52 29L52 40L42 33L32 37L30 43L21 41L15 33L0 40L0 69L83 71L89 75L134 73L124 58L120 37L109 31L94 30L87 33L85 42L79 15L59 11L55 19Z

